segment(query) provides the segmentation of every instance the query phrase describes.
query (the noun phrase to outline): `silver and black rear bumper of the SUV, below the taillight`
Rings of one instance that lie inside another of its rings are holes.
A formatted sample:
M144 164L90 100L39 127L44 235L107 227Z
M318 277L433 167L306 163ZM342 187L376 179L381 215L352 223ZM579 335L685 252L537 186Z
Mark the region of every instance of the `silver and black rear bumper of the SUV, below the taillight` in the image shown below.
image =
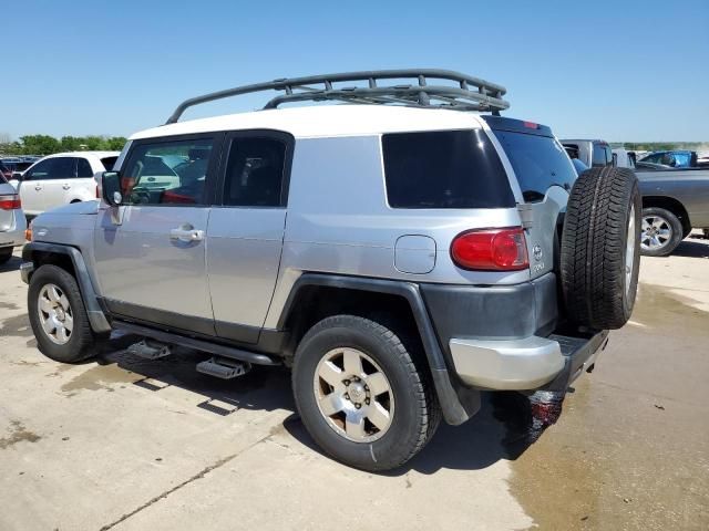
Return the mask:
M585 337L552 334L522 340L452 339L459 377L483 389L565 391L605 348L608 331Z

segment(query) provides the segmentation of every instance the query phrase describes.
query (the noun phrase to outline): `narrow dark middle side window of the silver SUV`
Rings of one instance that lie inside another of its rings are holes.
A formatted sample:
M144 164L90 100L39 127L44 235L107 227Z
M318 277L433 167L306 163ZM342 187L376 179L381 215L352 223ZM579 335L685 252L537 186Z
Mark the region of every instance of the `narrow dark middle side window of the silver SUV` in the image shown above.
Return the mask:
M276 138L234 138L224 183L224 205L285 206L286 144Z

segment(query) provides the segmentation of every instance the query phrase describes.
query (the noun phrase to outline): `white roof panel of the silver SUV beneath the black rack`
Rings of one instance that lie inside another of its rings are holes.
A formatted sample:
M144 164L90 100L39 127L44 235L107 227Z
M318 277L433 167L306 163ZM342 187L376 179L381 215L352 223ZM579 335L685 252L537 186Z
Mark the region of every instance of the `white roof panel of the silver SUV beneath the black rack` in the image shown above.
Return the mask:
M316 105L192 119L145 129L130 139L213 131L276 129L296 138L362 136L403 131L479 128L476 114L384 105Z

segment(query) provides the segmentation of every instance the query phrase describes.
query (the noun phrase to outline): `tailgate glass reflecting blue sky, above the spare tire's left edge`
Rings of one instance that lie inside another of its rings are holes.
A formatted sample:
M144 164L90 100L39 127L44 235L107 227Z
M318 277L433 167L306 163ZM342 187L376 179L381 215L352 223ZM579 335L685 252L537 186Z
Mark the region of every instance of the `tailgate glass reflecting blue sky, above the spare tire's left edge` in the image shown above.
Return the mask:
M554 138L495 131L517 176L526 202L542 201L552 186L572 189L576 171Z

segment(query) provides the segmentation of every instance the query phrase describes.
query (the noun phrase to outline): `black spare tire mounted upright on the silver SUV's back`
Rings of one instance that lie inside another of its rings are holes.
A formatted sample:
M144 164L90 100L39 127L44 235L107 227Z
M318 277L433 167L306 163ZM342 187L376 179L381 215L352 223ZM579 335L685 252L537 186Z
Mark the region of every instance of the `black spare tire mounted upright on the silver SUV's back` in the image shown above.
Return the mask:
M630 319L640 264L640 212L633 170L590 168L576 179L561 249L562 289L573 322L613 330Z

